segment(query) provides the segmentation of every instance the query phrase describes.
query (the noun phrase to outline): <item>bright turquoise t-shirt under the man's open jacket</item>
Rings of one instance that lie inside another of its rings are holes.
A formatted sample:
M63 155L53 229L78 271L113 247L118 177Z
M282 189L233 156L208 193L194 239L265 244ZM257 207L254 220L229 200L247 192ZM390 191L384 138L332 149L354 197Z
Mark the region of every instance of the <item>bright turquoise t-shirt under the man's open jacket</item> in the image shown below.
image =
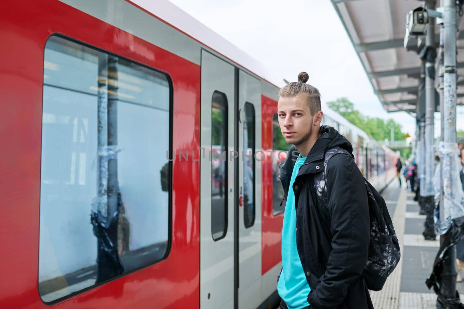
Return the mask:
M302 309L309 306L309 288L306 275L296 250L296 210L293 183L298 170L306 158L299 157L291 174L287 203L285 204L284 224L282 226L282 273L277 284L277 292L289 309Z

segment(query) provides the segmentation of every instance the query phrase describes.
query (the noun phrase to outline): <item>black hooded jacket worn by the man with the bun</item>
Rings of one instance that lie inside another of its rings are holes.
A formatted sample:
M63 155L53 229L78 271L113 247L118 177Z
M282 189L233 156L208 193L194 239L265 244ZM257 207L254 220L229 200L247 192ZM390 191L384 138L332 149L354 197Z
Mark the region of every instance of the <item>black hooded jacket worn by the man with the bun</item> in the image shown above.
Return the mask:
M361 276L370 239L364 179L348 139L331 126L321 126L320 133L290 188L295 193L296 248L311 288L308 302L312 309L370 309L373 305ZM336 153L324 170L324 154L335 147L351 156ZM298 155L292 146L280 165L285 199ZM316 183L321 179L316 174L322 171L326 183ZM318 188L325 203L318 202Z

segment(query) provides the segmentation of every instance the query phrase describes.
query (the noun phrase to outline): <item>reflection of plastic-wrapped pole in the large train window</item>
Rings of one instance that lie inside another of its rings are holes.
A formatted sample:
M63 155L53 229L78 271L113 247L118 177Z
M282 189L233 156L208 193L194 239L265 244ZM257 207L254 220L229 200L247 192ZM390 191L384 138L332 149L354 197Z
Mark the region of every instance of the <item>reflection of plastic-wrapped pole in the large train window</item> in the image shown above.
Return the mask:
M117 57L98 55L98 197L91 214L98 244L96 283L124 271L118 254L117 63Z

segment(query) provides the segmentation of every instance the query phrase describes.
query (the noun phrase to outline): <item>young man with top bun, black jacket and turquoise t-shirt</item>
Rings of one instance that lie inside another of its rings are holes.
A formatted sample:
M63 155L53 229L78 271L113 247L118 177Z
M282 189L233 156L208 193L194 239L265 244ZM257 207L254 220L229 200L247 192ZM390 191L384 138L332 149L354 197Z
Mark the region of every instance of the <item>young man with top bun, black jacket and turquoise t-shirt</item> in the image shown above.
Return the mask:
M370 240L364 179L350 142L320 126L321 95L307 80L300 73L280 90L277 105L282 134L293 144L280 165L286 198L281 308L370 309L361 276Z

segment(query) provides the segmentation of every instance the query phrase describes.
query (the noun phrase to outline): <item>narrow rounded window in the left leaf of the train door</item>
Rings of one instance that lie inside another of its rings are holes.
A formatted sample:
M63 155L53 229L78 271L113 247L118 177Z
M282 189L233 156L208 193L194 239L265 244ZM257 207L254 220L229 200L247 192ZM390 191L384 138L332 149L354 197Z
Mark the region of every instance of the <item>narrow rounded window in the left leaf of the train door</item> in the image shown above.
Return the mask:
M227 231L227 97L214 91L211 106L211 233L220 240Z

